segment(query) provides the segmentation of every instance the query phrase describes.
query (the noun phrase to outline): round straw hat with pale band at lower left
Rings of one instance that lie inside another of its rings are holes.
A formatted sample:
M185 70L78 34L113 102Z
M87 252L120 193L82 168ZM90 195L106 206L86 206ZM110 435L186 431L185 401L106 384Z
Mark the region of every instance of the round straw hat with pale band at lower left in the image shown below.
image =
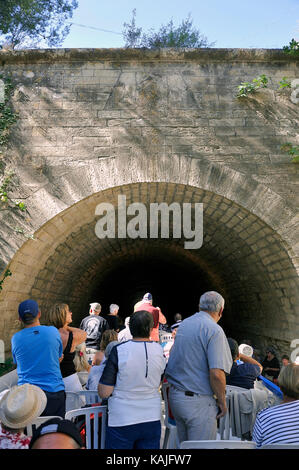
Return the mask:
M15 385L0 400L0 421L11 429L24 428L40 416L47 396L36 385Z

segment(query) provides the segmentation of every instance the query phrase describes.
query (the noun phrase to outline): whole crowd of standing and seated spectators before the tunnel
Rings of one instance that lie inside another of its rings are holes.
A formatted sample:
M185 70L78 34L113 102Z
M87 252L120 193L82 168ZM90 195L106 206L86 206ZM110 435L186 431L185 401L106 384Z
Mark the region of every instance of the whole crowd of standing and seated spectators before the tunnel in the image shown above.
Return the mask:
M0 394L0 448L83 448L65 412L66 392L84 387L107 404L106 448L159 449L162 383L169 384L179 442L215 440L227 413L227 385L250 390L257 381L271 383L282 399L257 414L252 440L258 447L299 444L299 364L288 356L280 363L272 346L261 360L249 340L227 338L220 294L204 293L197 313L176 314L170 326L150 293L124 322L118 305L107 315L101 310L91 303L75 328L67 304L53 305L46 325L34 300L19 305L23 328L11 340L18 385ZM29 438L25 428L38 416L62 419L46 421Z

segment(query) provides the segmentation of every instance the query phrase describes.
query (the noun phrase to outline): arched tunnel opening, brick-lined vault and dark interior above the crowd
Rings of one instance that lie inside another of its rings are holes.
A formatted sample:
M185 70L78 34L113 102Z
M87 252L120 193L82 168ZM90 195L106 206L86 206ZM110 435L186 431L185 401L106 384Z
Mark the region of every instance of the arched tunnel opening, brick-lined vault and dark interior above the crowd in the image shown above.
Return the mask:
M128 204L138 201L147 207L151 202L202 203L202 247L185 249L184 240L176 238L99 239L95 208L100 202L116 207L119 194L126 195ZM18 291L15 302L36 299L44 318L57 301L70 305L74 326L88 314L90 302L100 302L105 313L116 303L125 318L151 292L171 324L175 313L192 315L200 295L215 290L225 299L220 325L228 336L249 338L259 348L271 343L286 352L299 337L298 275L291 250L261 218L213 192L161 182L114 187L58 214L37 238L45 240L40 252L31 254L37 245L30 240L15 257L16 268L24 260L31 263L31 277L24 280L30 287Z

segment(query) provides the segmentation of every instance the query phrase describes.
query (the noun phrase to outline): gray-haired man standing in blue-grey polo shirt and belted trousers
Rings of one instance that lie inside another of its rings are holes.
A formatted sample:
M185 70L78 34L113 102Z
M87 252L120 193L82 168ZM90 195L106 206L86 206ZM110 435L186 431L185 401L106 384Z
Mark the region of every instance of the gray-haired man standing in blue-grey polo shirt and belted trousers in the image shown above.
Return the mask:
M206 292L199 307L200 312L180 324L165 374L180 442L216 439L217 418L227 412L225 374L233 361L224 331L217 325L224 299L217 292Z

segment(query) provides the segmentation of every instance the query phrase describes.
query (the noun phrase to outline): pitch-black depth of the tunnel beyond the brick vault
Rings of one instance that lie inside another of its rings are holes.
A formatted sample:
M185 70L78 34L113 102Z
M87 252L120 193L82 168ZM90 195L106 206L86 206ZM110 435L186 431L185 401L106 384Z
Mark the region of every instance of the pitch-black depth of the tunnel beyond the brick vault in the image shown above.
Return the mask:
M102 305L103 314L109 312L111 303L116 303L124 320L133 312L135 303L150 292L153 305L161 308L171 325L176 313L186 318L197 312L199 297L208 290L215 290L214 282L192 261L163 259L160 253L118 263L94 288L90 298Z

